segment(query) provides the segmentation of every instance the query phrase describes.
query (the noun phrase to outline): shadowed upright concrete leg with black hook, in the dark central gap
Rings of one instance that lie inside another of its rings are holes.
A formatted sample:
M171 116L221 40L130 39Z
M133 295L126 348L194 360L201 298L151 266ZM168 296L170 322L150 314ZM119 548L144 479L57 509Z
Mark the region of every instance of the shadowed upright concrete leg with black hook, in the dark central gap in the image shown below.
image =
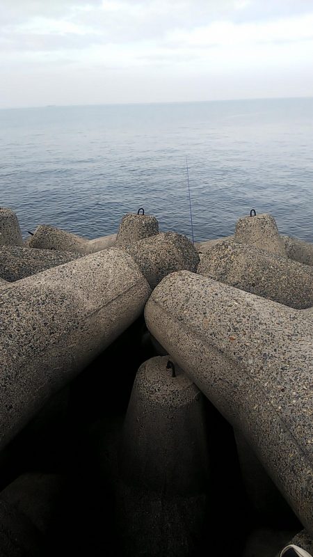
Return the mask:
M139 368L122 433L119 526L125 554L134 557L193 554L204 519L202 394L168 361L157 356Z

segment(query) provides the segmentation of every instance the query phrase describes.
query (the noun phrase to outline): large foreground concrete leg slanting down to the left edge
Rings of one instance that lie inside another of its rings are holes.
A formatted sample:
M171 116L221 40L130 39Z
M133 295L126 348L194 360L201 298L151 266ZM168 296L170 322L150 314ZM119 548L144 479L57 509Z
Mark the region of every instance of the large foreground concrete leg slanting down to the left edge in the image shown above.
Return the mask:
M1 289L0 448L136 320L150 292L115 248Z

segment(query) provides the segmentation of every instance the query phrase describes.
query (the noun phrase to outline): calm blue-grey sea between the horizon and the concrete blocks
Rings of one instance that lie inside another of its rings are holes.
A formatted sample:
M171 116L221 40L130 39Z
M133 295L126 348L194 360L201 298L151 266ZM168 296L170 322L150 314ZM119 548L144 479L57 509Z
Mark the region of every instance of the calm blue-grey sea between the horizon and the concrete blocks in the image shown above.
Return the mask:
M313 241L313 99L47 107L0 111L0 205L22 233L40 223L86 237L126 212L195 240L271 212Z

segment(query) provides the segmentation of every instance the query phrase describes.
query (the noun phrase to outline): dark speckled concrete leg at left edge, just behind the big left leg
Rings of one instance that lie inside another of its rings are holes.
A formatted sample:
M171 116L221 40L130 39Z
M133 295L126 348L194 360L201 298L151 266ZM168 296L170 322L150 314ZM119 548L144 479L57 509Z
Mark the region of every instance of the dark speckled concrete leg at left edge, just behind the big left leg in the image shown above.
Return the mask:
M77 253L32 249L19 246L0 247L0 277L14 282L51 267L63 265L81 257Z

